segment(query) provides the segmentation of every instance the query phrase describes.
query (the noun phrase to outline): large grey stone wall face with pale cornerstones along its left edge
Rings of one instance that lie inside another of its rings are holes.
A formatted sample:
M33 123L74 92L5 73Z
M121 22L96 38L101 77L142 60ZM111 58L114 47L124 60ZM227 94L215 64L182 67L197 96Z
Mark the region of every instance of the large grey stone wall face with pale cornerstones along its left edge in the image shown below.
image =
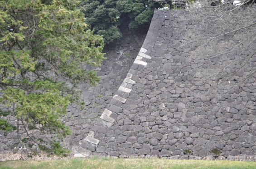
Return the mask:
M191 57L196 46L184 36L196 23L181 15L189 14L155 10L134 64L75 156L256 160L256 74L218 93L201 70L220 63Z

